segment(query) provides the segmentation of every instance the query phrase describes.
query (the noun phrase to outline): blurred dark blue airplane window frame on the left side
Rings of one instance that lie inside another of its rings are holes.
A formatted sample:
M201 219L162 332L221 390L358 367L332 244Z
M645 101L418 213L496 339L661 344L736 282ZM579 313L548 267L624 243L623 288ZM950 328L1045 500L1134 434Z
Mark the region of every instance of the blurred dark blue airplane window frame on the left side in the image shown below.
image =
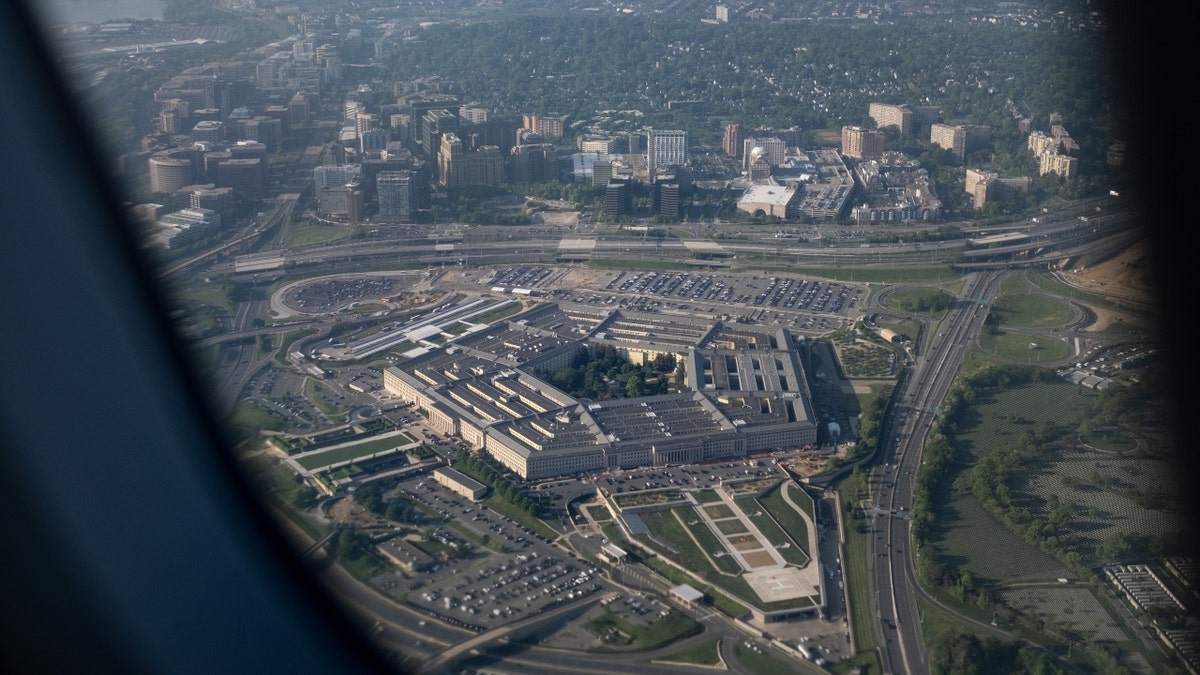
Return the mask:
M394 671L298 561L209 413L29 6L0 8L7 330L0 663ZM36 112L35 112L36 110Z

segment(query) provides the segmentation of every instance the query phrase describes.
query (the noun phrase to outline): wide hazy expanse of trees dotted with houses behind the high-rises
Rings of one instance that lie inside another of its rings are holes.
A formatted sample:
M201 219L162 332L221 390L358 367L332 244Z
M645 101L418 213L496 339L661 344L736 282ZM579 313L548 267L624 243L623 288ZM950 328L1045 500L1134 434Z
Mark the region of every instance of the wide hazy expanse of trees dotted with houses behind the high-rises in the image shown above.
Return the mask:
M487 54L480 59L479 54ZM396 46L391 79L440 74L503 113L589 119L638 109L719 138L716 118L800 129L863 123L872 101L932 102L947 118L1018 137L1006 101L1046 127L1062 113L1088 153L1115 129L1105 41L1086 32L899 18L889 23L698 24L664 16L528 17L440 24ZM695 100L688 112L668 101ZM695 110L702 114L696 115ZM928 136L926 136L928 137ZM989 150L1001 168L1021 143ZM904 149L904 148L901 148ZM914 156L934 151L920 147Z

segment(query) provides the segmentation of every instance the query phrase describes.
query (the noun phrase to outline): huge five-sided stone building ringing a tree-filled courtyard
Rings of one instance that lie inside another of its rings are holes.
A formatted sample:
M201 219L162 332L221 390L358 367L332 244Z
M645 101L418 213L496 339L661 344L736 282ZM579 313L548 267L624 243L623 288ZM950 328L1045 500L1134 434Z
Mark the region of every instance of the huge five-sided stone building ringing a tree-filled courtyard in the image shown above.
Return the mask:
M542 380L589 345L638 365L670 354L684 390L589 401ZM386 369L384 387L526 479L716 461L817 438L796 339L778 327L542 305Z

